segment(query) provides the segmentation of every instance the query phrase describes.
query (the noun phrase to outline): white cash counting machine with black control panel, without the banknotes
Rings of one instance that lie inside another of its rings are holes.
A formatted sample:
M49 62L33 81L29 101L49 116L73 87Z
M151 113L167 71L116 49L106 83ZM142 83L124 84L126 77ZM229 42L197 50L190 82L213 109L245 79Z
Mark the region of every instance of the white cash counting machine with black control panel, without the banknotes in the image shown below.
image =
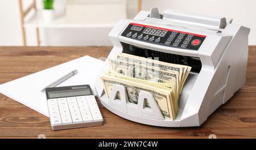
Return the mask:
M128 53L158 57L159 61L192 67L179 98L174 121L163 118L154 97L139 93L138 105L127 100L125 88L115 85L106 99L100 76L97 96L111 112L131 121L153 126L200 126L245 83L250 29L232 24L232 19L187 14L157 8L141 11L134 19L120 20L109 33L113 43L101 74L108 71L109 58ZM115 100L119 92L121 100ZM154 107L145 108L145 98Z

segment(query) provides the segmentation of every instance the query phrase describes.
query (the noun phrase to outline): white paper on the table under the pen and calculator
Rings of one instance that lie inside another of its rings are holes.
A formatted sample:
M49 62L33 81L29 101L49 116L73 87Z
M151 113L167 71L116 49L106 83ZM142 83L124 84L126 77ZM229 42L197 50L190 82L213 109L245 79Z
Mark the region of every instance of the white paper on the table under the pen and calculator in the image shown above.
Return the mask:
M99 59L86 55L73 61L65 62L61 65L1 84L0 92L49 117L46 93L41 92L41 90L61 78L61 76L76 69L78 71L76 75L60 83L57 87L90 84L93 94L96 95L94 82L100 73L103 63Z

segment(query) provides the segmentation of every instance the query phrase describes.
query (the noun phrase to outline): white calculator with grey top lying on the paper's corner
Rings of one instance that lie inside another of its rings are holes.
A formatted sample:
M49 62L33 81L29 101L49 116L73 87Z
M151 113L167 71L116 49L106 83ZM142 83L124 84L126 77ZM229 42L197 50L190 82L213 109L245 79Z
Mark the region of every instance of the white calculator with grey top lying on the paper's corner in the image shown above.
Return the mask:
M46 97L52 130L103 124L90 85L46 88Z

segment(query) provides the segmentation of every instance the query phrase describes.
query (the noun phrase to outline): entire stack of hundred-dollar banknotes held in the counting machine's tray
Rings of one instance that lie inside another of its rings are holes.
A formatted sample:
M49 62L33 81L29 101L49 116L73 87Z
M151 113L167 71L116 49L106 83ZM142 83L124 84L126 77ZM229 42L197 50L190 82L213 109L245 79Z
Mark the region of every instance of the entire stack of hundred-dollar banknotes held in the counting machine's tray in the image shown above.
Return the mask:
M164 118L176 118L179 96L191 67L126 53L109 59L109 63L109 71L101 76L107 98L115 84L125 87L129 102L133 104L138 104L140 91L147 91L155 98ZM148 102L146 107L150 108Z

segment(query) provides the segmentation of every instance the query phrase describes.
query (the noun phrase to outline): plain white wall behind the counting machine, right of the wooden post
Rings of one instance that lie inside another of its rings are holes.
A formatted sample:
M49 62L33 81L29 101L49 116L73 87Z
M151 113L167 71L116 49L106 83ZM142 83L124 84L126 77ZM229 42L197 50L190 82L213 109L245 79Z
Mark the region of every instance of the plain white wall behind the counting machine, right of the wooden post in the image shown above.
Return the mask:
M256 1L255 0L143 0L142 9L158 7L233 18L234 24L251 28L249 45L256 45Z

